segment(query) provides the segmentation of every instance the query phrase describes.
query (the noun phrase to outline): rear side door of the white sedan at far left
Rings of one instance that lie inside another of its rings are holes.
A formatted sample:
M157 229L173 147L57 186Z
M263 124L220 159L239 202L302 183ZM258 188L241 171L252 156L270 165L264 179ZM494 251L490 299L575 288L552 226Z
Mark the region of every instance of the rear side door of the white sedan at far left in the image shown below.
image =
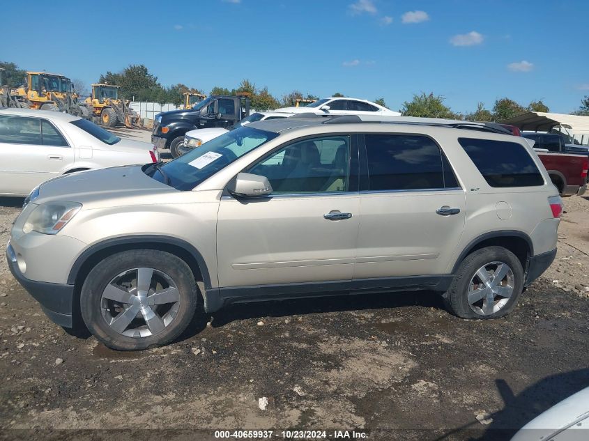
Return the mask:
M50 121L0 115L0 193L28 194L74 160L74 149Z

